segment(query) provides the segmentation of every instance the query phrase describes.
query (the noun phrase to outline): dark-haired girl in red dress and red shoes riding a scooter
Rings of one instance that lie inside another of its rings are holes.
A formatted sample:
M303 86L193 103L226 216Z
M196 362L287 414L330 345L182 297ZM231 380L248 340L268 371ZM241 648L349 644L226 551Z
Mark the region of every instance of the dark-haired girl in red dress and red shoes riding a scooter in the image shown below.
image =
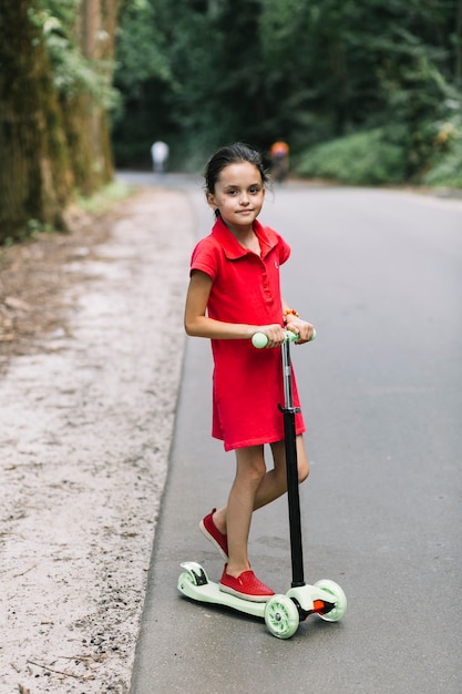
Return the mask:
M253 511L287 489L284 418L277 407L284 402L283 366L275 348L284 341L284 326L298 334L298 344L312 337L314 327L280 296L279 265L289 257L288 244L257 221L268 183L260 154L242 143L223 147L208 162L205 182L216 223L193 252L185 329L212 340L212 436L235 450L236 476L227 504L213 509L201 530L226 561L220 590L265 602L274 591L250 570L247 543ZM251 345L257 331L268 337L266 349ZM295 381L294 405L299 406ZM309 472L304 431L297 414L299 481ZM268 471L265 443L274 461Z

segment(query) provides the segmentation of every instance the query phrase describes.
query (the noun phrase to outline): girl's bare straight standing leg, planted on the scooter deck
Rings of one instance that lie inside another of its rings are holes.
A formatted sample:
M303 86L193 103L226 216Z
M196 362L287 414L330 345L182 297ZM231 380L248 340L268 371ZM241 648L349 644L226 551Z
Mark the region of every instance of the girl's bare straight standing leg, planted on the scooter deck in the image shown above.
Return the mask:
M248 571L247 543L255 497L266 476L263 446L251 446L236 450L236 477L229 492L226 509L220 509L217 518L226 519L228 535L228 565L226 572L237 578Z

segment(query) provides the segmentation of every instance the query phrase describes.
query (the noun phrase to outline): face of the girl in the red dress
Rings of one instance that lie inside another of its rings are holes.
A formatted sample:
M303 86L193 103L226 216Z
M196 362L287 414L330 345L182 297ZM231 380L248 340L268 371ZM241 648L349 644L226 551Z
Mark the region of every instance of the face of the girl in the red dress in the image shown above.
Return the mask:
M236 233L251 228L264 198L261 174L249 162L228 164L219 174L215 192L207 193L212 210L218 210L226 226Z

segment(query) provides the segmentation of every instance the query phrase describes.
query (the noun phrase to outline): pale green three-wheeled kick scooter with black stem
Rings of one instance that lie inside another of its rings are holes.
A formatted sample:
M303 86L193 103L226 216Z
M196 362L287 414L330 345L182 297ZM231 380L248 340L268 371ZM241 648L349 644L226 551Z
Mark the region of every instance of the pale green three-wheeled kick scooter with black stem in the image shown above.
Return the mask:
M311 339L315 339L316 333ZM298 490L297 447L295 415L299 411L292 402L290 343L298 336L286 330L283 344L283 371L285 406L279 405L284 416L287 463L287 497L289 507L290 553L292 567L291 588L287 593L271 595L265 603L251 602L219 590L217 583L208 580L201 564L188 561L182 563L185 570L178 578L178 590L186 598L198 602L225 605L239 612L265 620L268 631L278 639L289 639L301 621L309 614L318 614L326 622L338 622L347 611L347 598L337 583L328 579L307 585L304 579L301 548L300 499ZM255 347L266 347L268 338L256 333L251 341Z

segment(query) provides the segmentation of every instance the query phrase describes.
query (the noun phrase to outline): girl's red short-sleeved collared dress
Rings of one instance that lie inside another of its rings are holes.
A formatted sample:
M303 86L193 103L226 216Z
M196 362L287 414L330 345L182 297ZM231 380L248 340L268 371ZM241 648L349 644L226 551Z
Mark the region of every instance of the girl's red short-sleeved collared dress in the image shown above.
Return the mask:
M220 217L212 234L199 241L191 262L213 280L207 305L211 318L225 323L269 325L283 323L279 265L290 247L279 234L254 223L261 255L244 248ZM225 450L270 443L284 439L283 365L280 349L256 349L245 339L213 339L212 436ZM292 375L294 376L294 375ZM299 407L292 384L294 406ZM296 431L305 431L301 414Z

